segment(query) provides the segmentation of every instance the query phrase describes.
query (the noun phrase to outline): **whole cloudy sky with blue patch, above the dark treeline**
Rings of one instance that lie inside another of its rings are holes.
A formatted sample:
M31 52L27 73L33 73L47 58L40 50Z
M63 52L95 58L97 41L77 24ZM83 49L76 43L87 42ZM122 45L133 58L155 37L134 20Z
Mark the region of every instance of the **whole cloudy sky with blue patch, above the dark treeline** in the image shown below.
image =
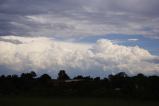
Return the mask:
M159 75L158 0L0 0L0 74Z

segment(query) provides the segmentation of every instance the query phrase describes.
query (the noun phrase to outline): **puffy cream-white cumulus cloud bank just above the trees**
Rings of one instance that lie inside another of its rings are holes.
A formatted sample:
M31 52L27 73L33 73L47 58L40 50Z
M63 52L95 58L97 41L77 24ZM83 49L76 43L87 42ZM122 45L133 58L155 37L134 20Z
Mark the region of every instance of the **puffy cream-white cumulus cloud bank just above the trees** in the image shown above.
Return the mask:
M0 66L16 72L43 70L55 73L65 69L72 75L95 76L121 71L130 75L159 72L158 56L138 46L121 46L107 39L81 44L47 37L2 36L0 48Z

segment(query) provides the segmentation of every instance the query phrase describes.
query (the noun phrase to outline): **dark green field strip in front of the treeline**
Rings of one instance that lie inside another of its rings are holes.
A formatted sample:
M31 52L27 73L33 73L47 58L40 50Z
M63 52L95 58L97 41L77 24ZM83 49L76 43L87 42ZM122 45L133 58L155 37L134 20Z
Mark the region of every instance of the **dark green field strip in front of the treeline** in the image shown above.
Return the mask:
M159 102L106 98L1 97L0 106L159 106Z

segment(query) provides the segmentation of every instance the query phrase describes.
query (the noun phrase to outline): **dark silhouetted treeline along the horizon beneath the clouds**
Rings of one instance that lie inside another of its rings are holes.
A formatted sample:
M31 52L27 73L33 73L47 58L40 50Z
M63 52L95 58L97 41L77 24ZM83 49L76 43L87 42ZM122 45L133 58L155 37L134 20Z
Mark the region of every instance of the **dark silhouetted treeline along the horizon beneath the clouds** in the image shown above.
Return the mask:
M48 74L37 77L35 72L0 76L0 96L80 96L159 99L159 77L124 72L106 78L76 76L72 79L64 70L57 79Z

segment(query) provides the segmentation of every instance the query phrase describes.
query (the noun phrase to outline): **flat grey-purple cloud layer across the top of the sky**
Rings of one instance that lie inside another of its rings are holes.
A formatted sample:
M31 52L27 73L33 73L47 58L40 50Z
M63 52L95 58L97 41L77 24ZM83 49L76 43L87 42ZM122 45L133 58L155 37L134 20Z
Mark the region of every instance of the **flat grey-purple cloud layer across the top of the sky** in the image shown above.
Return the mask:
M0 35L159 36L158 0L1 0Z

